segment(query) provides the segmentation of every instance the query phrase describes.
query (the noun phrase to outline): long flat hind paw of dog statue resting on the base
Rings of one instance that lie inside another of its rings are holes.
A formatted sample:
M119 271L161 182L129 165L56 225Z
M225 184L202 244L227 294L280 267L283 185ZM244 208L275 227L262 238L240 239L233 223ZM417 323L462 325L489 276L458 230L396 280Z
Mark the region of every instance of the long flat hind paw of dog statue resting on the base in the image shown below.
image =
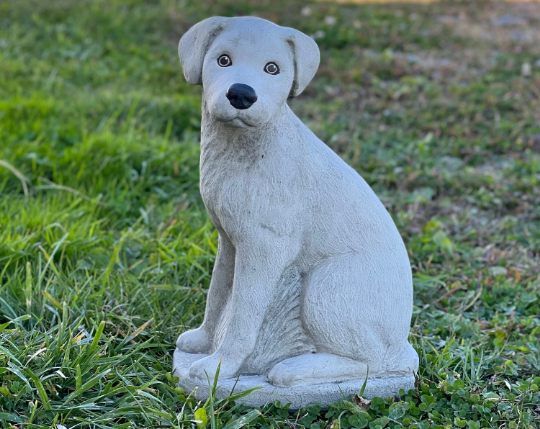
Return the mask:
M310 353L279 362L270 370L268 380L274 386L292 387L362 379L367 373L368 367L363 362L327 353Z

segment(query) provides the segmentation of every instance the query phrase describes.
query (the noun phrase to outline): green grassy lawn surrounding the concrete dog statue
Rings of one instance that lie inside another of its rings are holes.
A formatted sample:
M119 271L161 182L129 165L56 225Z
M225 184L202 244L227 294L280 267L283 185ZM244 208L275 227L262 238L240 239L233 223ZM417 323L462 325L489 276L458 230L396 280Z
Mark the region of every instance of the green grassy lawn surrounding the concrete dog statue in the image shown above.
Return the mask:
M305 5L0 1L0 427L540 427L540 8ZM176 44L239 14L317 37L291 105L407 244L416 391L288 413L175 388L217 245Z

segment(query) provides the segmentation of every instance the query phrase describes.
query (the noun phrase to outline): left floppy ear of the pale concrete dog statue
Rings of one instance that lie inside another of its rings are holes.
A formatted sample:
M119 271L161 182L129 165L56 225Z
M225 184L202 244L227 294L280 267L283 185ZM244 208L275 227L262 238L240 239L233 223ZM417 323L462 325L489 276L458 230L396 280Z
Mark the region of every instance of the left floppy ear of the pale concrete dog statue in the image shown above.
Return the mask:
M202 84L204 56L212 41L225 28L227 18L214 16L195 24L180 39L178 56L186 80L192 85Z

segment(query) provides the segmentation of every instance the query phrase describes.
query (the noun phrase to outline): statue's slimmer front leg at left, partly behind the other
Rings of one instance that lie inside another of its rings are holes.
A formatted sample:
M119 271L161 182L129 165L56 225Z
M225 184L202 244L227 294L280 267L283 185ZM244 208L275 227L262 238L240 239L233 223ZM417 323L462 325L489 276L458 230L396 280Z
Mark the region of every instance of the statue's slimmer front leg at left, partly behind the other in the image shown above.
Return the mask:
M197 329L184 332L178 337L176 347L179 350L188 353L209 353L211 351L216 325L231 293L234 258L233 245L224 234L220 233L216 262L206 297L203 323Z

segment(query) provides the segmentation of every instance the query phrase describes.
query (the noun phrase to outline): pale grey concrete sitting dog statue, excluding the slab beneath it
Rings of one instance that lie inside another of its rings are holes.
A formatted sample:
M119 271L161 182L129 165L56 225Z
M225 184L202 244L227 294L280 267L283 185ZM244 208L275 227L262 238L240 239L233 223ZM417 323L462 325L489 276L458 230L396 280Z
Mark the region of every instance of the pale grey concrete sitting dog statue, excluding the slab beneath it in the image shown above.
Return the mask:
M315 75L317 44L263 19L214 17L178 51L187 81L203 86L200 189L219 232L204 321L177 341L180 384L206 384L221 360L220 380L292 388L369 372L410 386L401 236L287 105Z

